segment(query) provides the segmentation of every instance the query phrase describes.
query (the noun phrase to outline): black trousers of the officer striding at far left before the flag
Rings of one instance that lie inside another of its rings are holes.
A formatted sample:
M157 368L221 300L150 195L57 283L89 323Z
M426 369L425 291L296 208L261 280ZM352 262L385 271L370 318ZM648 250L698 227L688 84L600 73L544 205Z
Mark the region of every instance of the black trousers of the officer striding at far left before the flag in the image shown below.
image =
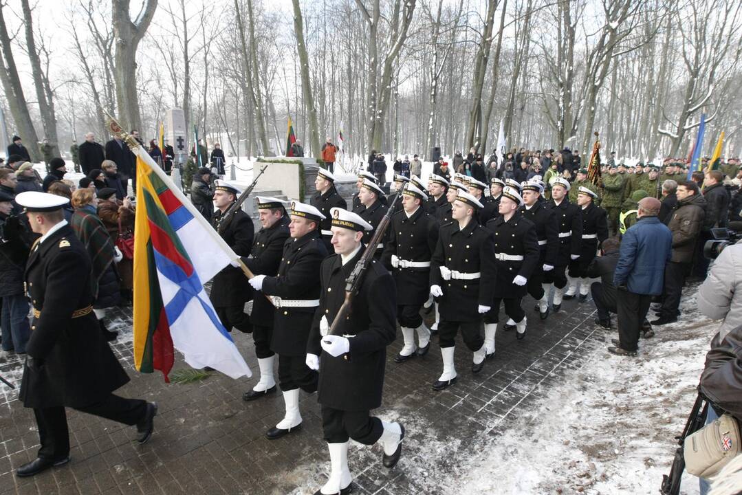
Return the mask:
M145 419L147 402L141 399L124 399L109 394L102 401L85 407L75 407L82 413L93 414L123 424L137 424ZM70 433L65 407L45 407L33 410L39 427L40 459L59 460L70 453Z

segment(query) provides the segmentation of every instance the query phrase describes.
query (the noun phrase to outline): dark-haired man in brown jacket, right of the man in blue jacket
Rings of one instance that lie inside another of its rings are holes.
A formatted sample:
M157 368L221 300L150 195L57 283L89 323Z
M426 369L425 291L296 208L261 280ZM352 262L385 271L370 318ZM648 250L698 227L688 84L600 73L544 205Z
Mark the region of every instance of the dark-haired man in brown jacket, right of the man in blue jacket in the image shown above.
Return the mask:
M683 283L689 275L693 254L703 219L706 216L706 199L700 194L698 185L683 181L677 186L677 206L672 210L668 227L672 232L672 258L665 266L665 288L663 291L660 318L653 325L664 325L677 321L677 308Z

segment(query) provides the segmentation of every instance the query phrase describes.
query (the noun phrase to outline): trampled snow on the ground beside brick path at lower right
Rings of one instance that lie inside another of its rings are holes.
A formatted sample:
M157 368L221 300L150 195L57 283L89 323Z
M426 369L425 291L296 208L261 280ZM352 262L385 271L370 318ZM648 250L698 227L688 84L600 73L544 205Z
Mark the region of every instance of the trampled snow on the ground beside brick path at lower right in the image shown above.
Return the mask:
M596 344L538 404L497 425L502 435L445 492L656 494L718 328L695 309L696 289L686 289L681 321L656 327L654 338L640 341L637 358ZM605 344L611 338L617 332L605 331ZM697 493L697 478L685 474L681 494Z

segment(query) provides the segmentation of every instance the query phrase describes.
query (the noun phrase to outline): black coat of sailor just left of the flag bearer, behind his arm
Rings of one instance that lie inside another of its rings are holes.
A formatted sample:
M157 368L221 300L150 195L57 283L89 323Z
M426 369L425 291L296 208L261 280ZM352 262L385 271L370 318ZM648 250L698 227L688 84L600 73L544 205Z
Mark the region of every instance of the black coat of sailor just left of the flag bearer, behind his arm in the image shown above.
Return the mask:
M268 275L275 277L278 274L281 256L283 256L283 245L289 238L289 218L283 217L268 229L260 229L255 235L252 243L250 258L243 259L247 267L255 275ZM275 306L271 304L260 293L255 297L252 286L249 286L249 298L252 299L252 312L250 321L254 326L273 328L273 315Z

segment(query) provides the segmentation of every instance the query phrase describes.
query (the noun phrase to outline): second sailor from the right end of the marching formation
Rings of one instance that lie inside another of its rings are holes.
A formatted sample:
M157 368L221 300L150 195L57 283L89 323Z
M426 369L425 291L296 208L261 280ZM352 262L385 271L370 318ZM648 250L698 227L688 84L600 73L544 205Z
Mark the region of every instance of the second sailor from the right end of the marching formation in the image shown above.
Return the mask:
M551 184L551 200L547 208L554 212L554 221L559 227L559 254L553 270L544 273L544 282L554 285L554 312L562 307L564 288L567 285L566 269L569 263L580 258L582 252L582 212L580 206L569 202L570 184L559 177ZM548 291L546 291L548 293Z

